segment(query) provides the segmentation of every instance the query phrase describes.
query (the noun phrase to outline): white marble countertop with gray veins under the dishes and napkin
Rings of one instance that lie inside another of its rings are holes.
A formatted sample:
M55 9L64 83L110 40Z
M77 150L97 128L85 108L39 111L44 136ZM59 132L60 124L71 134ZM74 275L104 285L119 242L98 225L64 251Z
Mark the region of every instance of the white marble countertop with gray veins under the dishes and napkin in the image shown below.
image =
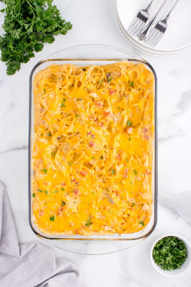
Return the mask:
M168 278L157 273L149 259L150 245L160 234L179 233L191 241L191 50L171 57L136 50L117 27L114 2L54 0L63 17L72 22L72 30L46 44L14 76L7 76L4 63L0 63L0 181L7 188L19 243L40 241L49 246L55 255L80 268L88 287L191 286L190 269ZM107 44L135 52L153 66L158 78L157 226L143 242L108 255L79 255L51 247L32 232L28 221L29 74L42 58L80 44Z

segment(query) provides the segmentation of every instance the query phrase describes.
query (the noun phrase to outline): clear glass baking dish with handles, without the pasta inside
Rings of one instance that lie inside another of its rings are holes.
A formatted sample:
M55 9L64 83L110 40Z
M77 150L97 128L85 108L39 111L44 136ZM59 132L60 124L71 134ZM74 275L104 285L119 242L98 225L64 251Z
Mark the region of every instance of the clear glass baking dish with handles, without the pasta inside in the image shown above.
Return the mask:
M82 235L46 235L42 233L36 225L34 224L32 220L32 178L33 178L33 170L31 167L32 162L32 146L33 146L33 130L34 130L34 98L33 98L33 82L34 77L38 71L46 68L48 65L51 65L52 63L59 64L75 64L75 65L103 65L103 64L109 64L114 63L116 61L123 61L128 60L133 63L143 63L147 69L149 69L155 78L154 82L154 137L153 137L153 147L154 147L154 154L153 154L153 172L152 172L152 216L150 222L145 226L145 228L139 232L135 232L132 234L113 234L113 235L94 235L94 236L82 236ZM29 177L29 224L34 231L34 233L44 238L45 240L49 241L51 244L54 241L53 245L56 245L59 248L66 249L69 251L76 252L76 249L74 249L74 241L123 241L123 244L121 247L116 247L116 251L128 248L135 243L147 238L154 230L157 222L157 77L155 74L154 69L151 67L151 65L141 59L139 56L125 51L120 48L112 47L112 46L105 46L105 45L81 45L81 46L74 46L70 47L61 51L58 51L50 56L48 56L46 59L43 59L39 63L37 63L34 68L31 71L30 79L29 79L29 165L28 165L28 177ZM58 240L62 241L70 241L71 248L64 247L64 245L58 243ZM126 243L124 245L124 242L128 241L128 244ZM78 244L79 245L79 244ZM84 245L84 243L83 243ZM93 247L94 249L95 247ZM81 252L81 247L77 247L78 253L84 253ZM80 249L80 250L79 250ZM99 247L98 247L99 249ZM113 250L113 247L112 247ZM101 251L102 252L102 251ZM111 251L114 252L114 251ZM110 253L110 251L107 251L105 253ZM94 252L90 252L88 254L95 254ZM100 251L96 254L102 254Z

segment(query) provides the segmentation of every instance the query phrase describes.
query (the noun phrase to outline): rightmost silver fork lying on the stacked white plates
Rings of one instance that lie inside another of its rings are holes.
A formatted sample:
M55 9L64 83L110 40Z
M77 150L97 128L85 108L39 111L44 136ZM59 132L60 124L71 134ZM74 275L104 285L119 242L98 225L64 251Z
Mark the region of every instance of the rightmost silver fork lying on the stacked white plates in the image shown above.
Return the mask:
M158 43L158 41L161 39L161 37L164 35L164 32L166 31L166 29L168 27L167 21L170 17L170 14L172 13L173 9L175 8L175 6L178 4L179 1L180 0L176 0L176 2L174 3L174 5L170 9L170 11L168 12L166 17L164 18L164 20L159 21L155 25L155 28L153 29L150 37L145 42L145 44L147 44L147 46L154 48L155 45Z

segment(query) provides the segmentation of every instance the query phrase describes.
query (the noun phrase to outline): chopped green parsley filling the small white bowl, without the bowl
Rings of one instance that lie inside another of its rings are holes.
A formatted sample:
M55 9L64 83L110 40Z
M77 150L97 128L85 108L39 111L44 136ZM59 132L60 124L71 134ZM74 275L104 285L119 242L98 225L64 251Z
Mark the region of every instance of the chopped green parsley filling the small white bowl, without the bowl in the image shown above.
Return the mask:
M176 236L160 239L153 248L153 259L163 270L179 269L187 256L184 242Z

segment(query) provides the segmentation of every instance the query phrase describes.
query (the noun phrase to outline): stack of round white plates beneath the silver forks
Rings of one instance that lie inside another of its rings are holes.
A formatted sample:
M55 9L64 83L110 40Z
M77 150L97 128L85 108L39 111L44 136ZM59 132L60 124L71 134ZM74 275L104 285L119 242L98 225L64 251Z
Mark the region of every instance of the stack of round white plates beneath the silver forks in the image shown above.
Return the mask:
M144 41L139 40L138 36L133 38L127 33L138 12L141 9L145 9L149 2L149 0L116 0L115 17L119 30L125 39L135 48L150 55L170 56L188 50L191 47L190 0L181 0L178 2L177 6L170 15L166 32L154 48L146 46ZM163 0L155 0L153 2L153 5L149 11L149 18L155 14L162 2ZM156 23L166 17L174 3L175 0L168 0L166 2L157 18Z

